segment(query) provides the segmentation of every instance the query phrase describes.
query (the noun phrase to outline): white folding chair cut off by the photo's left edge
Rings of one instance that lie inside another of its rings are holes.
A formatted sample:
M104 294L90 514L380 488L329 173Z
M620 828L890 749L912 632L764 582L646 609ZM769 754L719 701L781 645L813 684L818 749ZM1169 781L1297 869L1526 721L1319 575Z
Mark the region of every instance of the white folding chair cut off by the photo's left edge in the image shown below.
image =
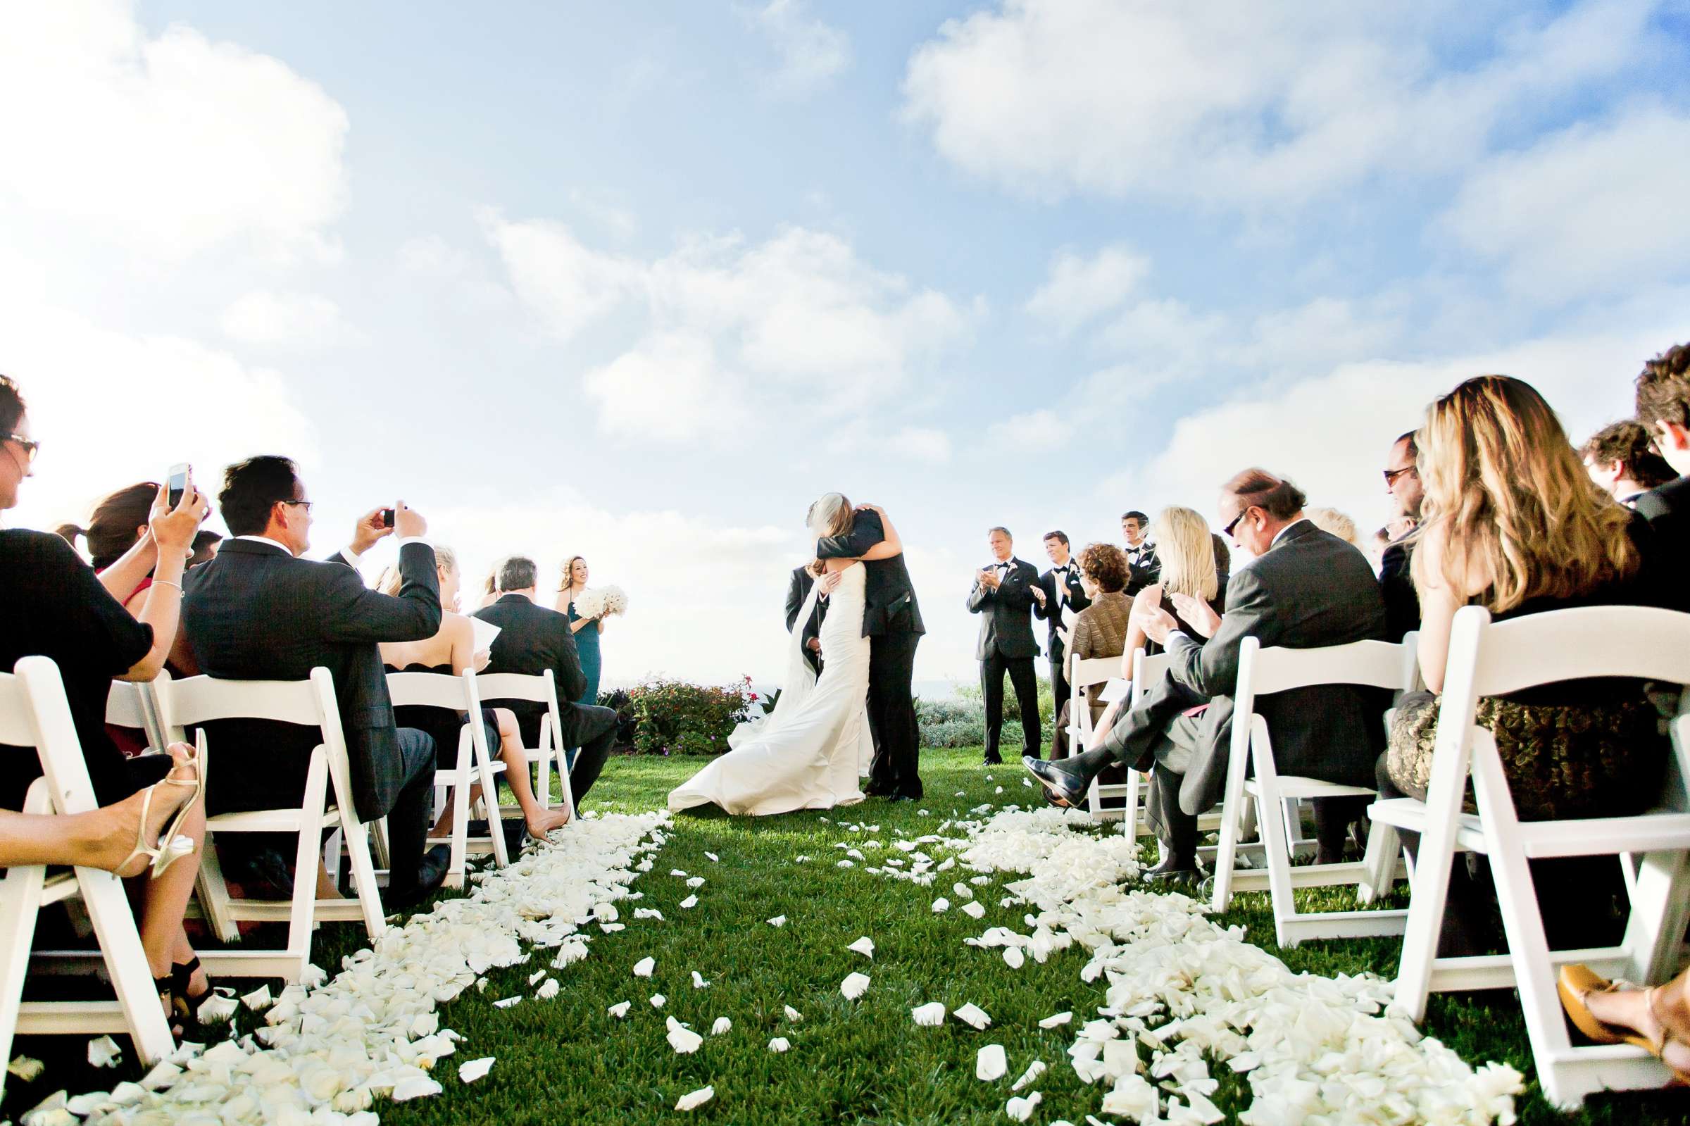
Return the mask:
M29 788L25 813L51 817L96 808L64 683L51 659L27 656L15 673L0 673L0 744L34 747L41 757L42 778ZM71 896L81 896L88 908L117 1001L24 1003L35 916L42 906ZM0 1060L12 1058L17 1033L112 1031L128 1033L144 1063L176 1050L123 883L96 867L52 876L44 866L5 869L0 879ZM0 1072L3 1090L5 1074Z

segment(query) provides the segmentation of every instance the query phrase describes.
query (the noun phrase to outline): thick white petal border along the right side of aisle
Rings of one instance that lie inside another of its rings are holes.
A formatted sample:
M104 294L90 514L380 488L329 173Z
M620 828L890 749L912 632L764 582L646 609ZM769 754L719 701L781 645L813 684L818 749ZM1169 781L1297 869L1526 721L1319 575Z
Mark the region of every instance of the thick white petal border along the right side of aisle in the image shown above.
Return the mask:
M1386 1011L1393 986L1381 977L1293 974L1183 894L1122 889L1137 876L1132 845L1119 832L1075 832L1088 823L1060 810L1006 810L955 828L972 835L962 866L1026 872L1006 891L1038 910L1026 916L1031 933L994 926L970 945L1022 948L1039 962L1071 943L1092 952L1080 977L1105 979L1105 1006L1068 1055L1083 1080L1110 1080L1105 1114L1215 1121L1207 1053L1249 1074L1246 1126L1514 1121L1519 1072L1475 1070ZM1158 1082L1171 1092L1163 1104Z

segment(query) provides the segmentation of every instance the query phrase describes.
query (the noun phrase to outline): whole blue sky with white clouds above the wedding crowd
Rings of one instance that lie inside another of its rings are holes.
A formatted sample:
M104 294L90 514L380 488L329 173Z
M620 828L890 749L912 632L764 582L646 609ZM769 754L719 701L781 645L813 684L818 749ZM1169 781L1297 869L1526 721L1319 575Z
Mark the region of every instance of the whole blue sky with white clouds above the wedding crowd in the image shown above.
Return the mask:
M394 495L472 570L585 551L612 678L777 670L828 489L970 676L989 524L1043 561L1266 463L1377 526L1464 375L1582 438L1690 336L1683 0L0 19L10 521L297 451L324 553Z

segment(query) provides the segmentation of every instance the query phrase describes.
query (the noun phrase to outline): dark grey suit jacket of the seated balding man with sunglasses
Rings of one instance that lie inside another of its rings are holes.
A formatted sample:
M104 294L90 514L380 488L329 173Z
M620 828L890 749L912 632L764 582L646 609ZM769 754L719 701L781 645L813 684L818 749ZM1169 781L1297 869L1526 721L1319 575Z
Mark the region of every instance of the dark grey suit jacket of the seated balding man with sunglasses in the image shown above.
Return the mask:
M1232 691L1239 648L1256 637L1264 649L1315 649L1350 641L1387 641L1384 599L1366 556L1352 544L1301 521L1279 543L1227 583L1227 612L1208 641L1183 632L1168 637L1169 670L1136 712L1158 722L1193 703L1208 703L1198 747L1180 786L1180 808L1200 813L1215 805L1227 781L1232 741ZM1268 720L1274 764L1349 786L1372 786L1384 749L1379 717L1391 703L1382 688L1313 685L1256 698Z

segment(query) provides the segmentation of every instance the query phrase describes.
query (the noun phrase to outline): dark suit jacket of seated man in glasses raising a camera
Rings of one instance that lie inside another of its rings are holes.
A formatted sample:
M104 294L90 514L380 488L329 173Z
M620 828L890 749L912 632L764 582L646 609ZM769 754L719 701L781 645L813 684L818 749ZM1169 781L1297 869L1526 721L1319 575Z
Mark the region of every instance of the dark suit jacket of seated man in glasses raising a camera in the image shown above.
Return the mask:
M297 560L254 539L225 539L183 580L183 634L199 671L220 680L306 680L324 666L352 763L358 820L385 817L404 784L382 641L439 632L434 548L399 549L399 593L370 590L352 563ZM213 812L267 810L304 795L316 729L267 720L206 724L216 769L206 771Z

